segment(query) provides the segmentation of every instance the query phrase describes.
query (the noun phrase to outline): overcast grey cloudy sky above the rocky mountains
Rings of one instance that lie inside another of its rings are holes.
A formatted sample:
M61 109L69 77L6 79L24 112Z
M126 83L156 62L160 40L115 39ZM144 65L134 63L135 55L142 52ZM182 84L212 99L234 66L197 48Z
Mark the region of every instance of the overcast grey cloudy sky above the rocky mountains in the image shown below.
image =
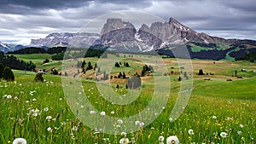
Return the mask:
M100 32L96 21L115 14L147 24L172 17L197 32L256 40L255 0L1 0L0 41L30 43L52 32L79 32L88 23L83 32Z

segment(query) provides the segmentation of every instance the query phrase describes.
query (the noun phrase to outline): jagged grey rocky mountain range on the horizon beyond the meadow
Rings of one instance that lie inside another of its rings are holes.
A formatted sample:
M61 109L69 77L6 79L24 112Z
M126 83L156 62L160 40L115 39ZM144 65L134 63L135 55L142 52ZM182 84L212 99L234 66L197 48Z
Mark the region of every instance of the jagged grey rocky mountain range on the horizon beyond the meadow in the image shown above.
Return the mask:
M166 22L154 22L150 26L143 24L138 30L129 21L108 19L98 33L51 33L47 37L32 39L30 47L90 47L106 46L119 51L158 51L172 55L173 45L183 44L189 49L192 58L220 60L226 57L241 57L256 49L256 41L224 39L212 37L206 33L195 32L177 20L170 18ZM1 43L0 49L8 51L9 46Z

